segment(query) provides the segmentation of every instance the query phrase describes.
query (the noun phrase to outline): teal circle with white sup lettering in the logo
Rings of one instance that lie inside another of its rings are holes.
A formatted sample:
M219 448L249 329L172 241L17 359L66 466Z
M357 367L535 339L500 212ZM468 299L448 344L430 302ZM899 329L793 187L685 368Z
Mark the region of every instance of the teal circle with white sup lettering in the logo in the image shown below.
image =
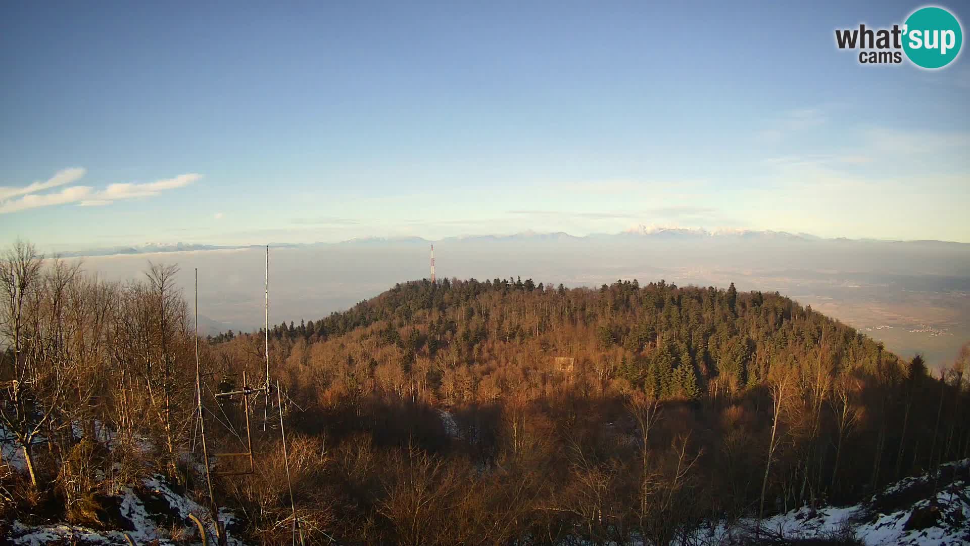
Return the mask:
M942 68L960 52L960 22L943 8L921 8L903 25L903 51L917 66Z

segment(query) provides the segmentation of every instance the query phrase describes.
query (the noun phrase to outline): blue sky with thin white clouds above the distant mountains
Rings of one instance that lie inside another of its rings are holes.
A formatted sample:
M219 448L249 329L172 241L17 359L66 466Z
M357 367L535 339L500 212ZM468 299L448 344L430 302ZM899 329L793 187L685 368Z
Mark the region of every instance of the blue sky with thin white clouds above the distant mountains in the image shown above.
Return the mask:
M4 3L0 239L970 242L966 53L834 44L921 4L476 4Z

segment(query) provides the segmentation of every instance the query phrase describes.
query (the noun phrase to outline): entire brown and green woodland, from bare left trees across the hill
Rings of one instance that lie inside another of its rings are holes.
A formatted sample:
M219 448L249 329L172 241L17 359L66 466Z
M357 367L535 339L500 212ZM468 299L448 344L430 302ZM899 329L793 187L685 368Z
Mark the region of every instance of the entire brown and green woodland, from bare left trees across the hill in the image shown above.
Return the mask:
M3 478L4 516L43 501L45 517L87 522L97 495L152 473L204 498L177 267L108 283L22 242L2 267L0 423L26 461ZM930 373L733 285L420 280L266 333L201 344L210 442L239 448L242 405L214 394L243 370L261 385L268 360L312 543L668 544L970 456L970 349ZM255 472L215 489L242 536L271 544L291 507L268 399L248 416Z

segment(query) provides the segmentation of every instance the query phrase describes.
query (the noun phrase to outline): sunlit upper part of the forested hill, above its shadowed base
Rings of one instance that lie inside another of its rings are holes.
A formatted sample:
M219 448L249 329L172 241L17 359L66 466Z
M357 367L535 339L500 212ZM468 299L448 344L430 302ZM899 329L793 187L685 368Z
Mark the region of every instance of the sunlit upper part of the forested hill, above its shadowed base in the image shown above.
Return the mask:
M660 397L737 392L758 385L772 367L820 360L834 371L905 371L880 343L810 306L777 292L739 293L733 284L640 287L634 280L567 290L532 279L415 281L326 319L276 325L271 336L313 344L371 325L362 337L398 348L408 361L536 364L571 357L600 380L622 379Z

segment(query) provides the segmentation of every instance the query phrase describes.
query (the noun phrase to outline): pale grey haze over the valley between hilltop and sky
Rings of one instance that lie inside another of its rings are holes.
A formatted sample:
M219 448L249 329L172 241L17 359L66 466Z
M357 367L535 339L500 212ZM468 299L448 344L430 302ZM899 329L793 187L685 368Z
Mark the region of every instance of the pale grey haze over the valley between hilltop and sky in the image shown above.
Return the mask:
M429 276L431 241L355 239L271 247L271 324L317 320L383 290ZM970 245L939 241L819 239L773 232L691 230L572 237L565 233L434 241L438 278L521 276L567 287L617 279L665 280L779 291L931 366L952 362L970 339ZM72 258L79 259L79 258ZM262 247L81 257L84 267L126 280L147 260L178 263L191 295L199 268L205 333L263 323Z

